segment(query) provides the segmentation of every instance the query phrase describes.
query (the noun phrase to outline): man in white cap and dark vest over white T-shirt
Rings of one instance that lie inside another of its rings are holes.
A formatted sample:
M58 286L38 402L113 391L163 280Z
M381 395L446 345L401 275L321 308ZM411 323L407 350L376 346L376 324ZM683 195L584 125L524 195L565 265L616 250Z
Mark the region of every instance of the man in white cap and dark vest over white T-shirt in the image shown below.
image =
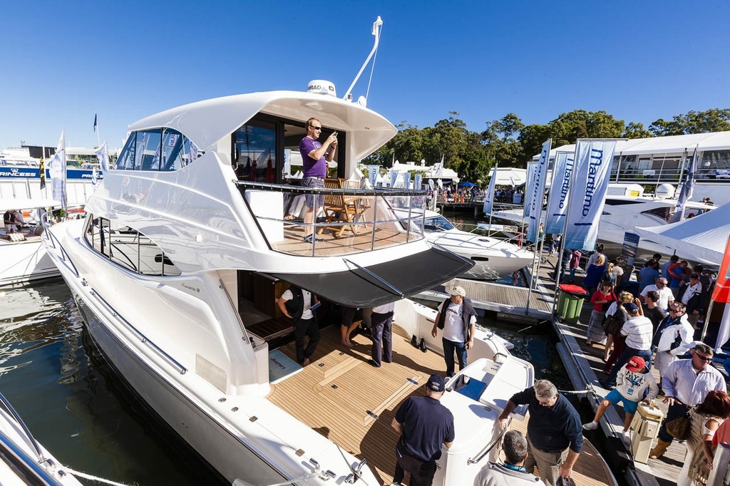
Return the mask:
M454 376L454 352L458 361L458 369L466 366L466 351L474 346L475 325L477 312L472 303L466 298L463 287L451 289L451 297L447 298L434 320L431 336L436 337L437 329L442 329L442 343L444 346L444 360L446 361L446 376Z

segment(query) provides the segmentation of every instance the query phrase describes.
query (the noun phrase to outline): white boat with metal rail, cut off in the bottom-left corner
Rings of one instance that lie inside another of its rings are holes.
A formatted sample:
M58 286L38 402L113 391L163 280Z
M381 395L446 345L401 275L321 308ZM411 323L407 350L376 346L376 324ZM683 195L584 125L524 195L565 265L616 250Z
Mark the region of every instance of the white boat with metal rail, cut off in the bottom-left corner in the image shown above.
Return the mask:
M33 435L0 394L0 482L3 486L82 486Z

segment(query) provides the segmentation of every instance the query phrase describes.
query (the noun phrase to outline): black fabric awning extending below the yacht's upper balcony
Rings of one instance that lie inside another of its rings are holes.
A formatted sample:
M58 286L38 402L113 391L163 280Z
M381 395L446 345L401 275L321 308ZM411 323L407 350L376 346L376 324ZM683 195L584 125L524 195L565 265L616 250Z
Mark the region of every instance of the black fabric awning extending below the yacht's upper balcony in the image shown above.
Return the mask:
M433 288L463 274L474 262L447 250L429 250L360 269L326 274L272 274L349 307L373 307ZM377 276L377 277L376 277ZM386 283L387 282L387 283Z

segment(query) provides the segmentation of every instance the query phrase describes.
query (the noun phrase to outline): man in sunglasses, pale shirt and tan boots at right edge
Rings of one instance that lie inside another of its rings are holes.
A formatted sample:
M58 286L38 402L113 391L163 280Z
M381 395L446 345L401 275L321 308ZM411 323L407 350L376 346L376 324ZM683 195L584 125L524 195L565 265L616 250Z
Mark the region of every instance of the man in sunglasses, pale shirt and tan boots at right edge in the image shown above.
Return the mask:
M692 358L676 360L669 365L661 383L664 390L664 403L669 404L664 422L659 429L659 441L649 457L661 458L674 437L666 431L666 423L681 417L687 410L702 404L707 393L712 390L726 390L725 379L720 371L712 366L712 348L704 342L695 342Z

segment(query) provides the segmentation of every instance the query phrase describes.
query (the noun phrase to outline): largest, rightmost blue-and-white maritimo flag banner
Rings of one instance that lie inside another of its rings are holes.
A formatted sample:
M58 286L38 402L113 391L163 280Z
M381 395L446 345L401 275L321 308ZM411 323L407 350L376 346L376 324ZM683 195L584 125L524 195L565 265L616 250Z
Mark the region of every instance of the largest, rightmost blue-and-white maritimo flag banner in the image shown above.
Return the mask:
M615 140L578 140L575 178L568 201L565 247L593 250L608 190Z

